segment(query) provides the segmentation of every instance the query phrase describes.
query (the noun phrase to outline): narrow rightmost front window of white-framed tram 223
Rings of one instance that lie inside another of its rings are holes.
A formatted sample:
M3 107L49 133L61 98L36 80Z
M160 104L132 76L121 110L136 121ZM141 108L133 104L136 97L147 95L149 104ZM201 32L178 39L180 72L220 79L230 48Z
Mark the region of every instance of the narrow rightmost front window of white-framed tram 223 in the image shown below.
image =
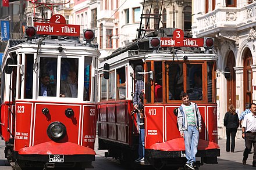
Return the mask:
M91 57L84 58L84 101L90 100L91 93Z

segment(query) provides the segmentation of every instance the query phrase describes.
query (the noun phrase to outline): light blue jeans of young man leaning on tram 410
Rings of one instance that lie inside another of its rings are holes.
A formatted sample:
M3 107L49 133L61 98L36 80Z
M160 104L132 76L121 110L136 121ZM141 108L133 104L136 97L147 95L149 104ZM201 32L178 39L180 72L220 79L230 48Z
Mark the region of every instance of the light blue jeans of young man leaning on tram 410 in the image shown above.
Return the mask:
M195 154L197 154L197 145L199 141L199 131L196 126L187 126L184 131L184 143L186 149L187 163L195 162Z

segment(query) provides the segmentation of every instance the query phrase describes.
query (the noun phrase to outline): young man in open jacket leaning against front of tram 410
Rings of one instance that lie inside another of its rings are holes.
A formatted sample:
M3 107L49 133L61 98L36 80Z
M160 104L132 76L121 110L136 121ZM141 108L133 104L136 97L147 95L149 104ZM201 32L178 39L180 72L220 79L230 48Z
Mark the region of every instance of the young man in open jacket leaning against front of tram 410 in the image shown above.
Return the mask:
M178 108L177 123L179 125L180 137L184 138L187 164L190 169L195 169L195 155L199 142L201 127L201 114L197 104L189 102L189 95L185 92L180 94L182 100Z

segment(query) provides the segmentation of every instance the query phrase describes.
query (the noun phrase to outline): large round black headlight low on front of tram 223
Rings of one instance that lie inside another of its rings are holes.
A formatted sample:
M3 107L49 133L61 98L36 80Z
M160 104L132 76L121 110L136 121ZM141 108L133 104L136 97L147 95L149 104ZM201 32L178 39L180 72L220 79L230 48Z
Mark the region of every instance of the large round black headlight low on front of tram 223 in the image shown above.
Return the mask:
M48 137L54 141L62 140L66 133L66 126L62 122L52 122L47 128Z

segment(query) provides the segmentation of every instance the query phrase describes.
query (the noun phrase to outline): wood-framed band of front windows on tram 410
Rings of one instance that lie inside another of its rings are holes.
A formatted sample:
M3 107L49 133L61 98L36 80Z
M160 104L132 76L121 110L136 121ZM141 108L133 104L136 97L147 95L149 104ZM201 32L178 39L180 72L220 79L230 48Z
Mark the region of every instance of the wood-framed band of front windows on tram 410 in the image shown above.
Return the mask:
M154 63L154 69L151 68ZM215 102L214 62L147 62L146 71L154 71L154 82L146 81L147 103L180 100L180 93L189 93L190 100ZM154 87L153 87L154 85ZM151 95L151 92L154 94ZM151 100L151 96L154 99Z

